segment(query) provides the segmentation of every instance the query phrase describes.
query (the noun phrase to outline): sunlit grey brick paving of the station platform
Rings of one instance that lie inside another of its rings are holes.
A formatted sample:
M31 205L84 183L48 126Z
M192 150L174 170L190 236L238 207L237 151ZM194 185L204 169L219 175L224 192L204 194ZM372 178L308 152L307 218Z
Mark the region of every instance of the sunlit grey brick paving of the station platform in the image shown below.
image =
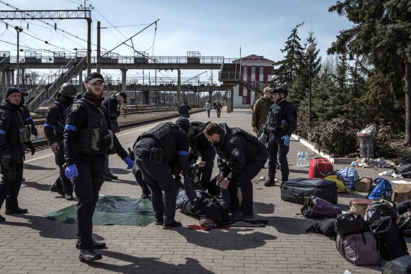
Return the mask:
M250 111L222 112L221 118L211 112L191 115L190 120L227 122L251 132ZM153 125L140 126L118 134L125 148ZM305 150L291 140L288 161L290 178L306 177L308 168L297 167L297 152ZM308 151L309 157L315 157ZM141 189L125 163L110 156L112 173L119 180L103 184L101 194L139 198ZM216 165L215 165L216 166ZM335 165L341 168L346 165ZM359 169L360 176L377 177L382 170ZM217 169L215 168L215 172ZM229 228L211 231L190 230L187 225L198 221L177 212L183 227L164 230L154 224L146 227L94 226L94 239L105 241L108 249L103 259L90 264L78 261L75 248L76 226L56 223L40 216L76 204L48 191L58 170L50 150L28 156L19 203L28 208L23 215L5 215L0 223L0 273L380 273L380 267L356 267L336 251L335 242L325 236L306 233L314 220L293 217L301 206L280 199L278 187L264 187L258 180L267 175L263 169L253 180L254 212L268 220L266 228ZM277 174L278 177L280 176ZM365 193L339 194L339 206L348 210L351 198L364 198ZM3 215L3 209L0 211ZM4 215L3 215L4 216ZM385 261L382 262L382 266Z

